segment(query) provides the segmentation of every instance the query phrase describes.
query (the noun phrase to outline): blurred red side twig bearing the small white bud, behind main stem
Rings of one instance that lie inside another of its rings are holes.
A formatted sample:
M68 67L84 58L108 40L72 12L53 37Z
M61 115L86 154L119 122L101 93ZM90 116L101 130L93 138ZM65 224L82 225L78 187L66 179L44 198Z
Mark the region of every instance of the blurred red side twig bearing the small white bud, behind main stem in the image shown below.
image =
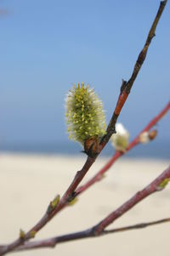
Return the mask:
M156 123L159 122L160 119L164 117L167 114L167 111L169 110L170 110L170 102L168 102L167 105L163 108L163 110L148 123L148 125L139 133L139 135L135 139L133 139L133 141L127 146L127 150L125 152L116 151L116 153L111 157L111 159L105 164L103 168L101 168L101 170L99 170L97 174L94 175L93 178L89 179L84 185L78 187L75 193L75 196L78 196L83 191L86 191L91 185L94 185L95 182L99 181L100 179L103 179L103 175L105 174L106 171L109 170L109 168L111 168L113 163L116 162L116 160L119 157L126 154L127 151L132 150L135 145L139 145L140 143L139 136L144 132L149 131L150 128L155 126Z

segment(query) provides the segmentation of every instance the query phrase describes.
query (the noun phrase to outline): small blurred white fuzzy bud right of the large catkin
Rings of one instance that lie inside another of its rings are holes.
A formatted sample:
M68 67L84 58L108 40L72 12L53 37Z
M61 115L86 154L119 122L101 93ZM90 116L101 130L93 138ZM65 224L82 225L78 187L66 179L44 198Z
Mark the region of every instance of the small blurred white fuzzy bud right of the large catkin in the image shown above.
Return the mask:
M126 152L128 145L129 134L122 123L116 123L116 134L111 136L111 143L116 151Z

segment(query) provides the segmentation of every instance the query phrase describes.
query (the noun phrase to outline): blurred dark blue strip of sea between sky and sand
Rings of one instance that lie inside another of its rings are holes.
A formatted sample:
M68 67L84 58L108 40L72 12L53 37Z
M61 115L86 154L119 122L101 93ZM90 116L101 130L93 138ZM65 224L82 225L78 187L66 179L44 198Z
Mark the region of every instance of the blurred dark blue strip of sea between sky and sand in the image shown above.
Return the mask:
M0 152L11 153L37 153L37 154L63 154L63 155L80 155L83 154L82 146L68 141L42 144L22 144L22 145L0 145ZM105 146L102 156L112 156L114 149L110 143ZM170 159L170 140L152 141L146 145L137 145L131 151L128 151L125 157L138 158L160 158Z

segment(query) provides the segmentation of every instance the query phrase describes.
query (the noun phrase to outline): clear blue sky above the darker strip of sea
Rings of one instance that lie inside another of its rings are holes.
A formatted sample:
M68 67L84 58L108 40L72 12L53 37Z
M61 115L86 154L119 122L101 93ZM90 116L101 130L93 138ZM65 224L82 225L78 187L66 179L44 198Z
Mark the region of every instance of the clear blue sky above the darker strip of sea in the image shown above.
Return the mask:
M0 0L0 142L67 141L65 94L89 83L107 122L159 1ZM170 2L122 110L131 138L170 98ZM168 114L158 139L168 139ZM73 142L72 142L73 143Z

